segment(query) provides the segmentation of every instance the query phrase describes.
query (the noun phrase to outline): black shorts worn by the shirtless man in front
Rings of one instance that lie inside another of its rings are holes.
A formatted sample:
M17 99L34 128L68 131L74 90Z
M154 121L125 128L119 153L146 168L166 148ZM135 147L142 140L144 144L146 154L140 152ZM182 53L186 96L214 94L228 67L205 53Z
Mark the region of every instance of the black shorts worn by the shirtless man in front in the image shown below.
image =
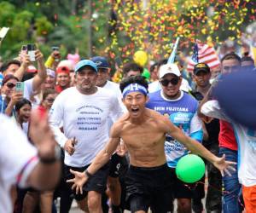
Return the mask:
M166 213L172 208L172 172L167 164L145 168L130 166L126 178L127 202L131 212L148 208Z

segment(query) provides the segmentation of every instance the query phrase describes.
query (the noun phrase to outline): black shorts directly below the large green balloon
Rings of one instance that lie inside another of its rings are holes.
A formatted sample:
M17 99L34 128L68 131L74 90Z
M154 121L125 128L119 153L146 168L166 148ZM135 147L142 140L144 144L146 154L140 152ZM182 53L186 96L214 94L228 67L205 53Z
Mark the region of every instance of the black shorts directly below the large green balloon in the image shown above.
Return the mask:
M169 168L172 173L173 198L174 199L192 199L195 189L194 183L185 183L177 178L175 168Z

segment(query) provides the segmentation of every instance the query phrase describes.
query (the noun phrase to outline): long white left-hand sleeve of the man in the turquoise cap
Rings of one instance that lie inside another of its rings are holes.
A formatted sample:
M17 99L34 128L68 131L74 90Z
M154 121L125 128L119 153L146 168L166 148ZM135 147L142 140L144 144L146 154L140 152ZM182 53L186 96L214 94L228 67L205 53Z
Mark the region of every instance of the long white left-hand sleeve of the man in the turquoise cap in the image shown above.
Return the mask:
M61 132L60 126L64 117L64 109L61 101L61 95L57 96L52 107L49 110L49 125L54 132L55 141L64 147L67 137Z

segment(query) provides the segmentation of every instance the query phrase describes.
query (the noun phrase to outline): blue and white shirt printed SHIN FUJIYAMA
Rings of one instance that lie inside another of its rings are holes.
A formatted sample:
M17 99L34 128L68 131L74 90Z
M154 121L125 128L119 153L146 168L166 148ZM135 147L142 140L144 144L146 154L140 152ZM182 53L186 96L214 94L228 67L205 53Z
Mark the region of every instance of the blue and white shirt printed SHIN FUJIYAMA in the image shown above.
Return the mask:
M162 89L149 93L146 107L168 117L173 124L183 130L185 135L201 142L203 138L202 123L197 116L198 102L195 98L181 91L177 100L169 100L162 93ZM188 154L189 150L171 135L166 134L165 153L168 166L175 168L179 158Z

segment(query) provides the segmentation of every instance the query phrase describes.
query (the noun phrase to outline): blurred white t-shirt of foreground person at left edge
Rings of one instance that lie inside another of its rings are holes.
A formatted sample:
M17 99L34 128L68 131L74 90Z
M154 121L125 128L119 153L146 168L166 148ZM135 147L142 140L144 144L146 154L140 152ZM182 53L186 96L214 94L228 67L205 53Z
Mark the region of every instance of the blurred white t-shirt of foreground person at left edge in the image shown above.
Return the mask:
M12 212L11 186L26 187L26 180L38 164L37 150L12 121L0 115L0 211Z

